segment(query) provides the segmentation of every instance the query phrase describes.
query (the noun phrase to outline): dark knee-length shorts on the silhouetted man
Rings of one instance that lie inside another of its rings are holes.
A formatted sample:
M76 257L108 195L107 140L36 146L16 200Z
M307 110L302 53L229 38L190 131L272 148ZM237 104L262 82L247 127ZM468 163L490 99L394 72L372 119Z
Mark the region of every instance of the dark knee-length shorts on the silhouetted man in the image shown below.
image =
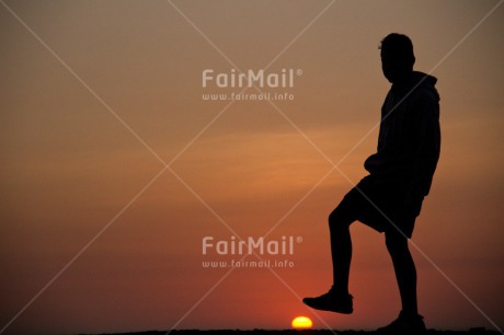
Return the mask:
M360 221L379 231L402 232L411 239L423 196L408 194L404 185L376 183L373 176L363 178L334 209L351 222Z

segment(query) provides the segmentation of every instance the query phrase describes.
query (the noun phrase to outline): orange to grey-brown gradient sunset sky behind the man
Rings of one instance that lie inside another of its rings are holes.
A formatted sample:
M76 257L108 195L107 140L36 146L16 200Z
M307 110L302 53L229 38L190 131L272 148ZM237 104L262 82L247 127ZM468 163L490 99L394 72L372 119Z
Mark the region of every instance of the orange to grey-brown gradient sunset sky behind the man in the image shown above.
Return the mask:
M354 314L299 301L331 285L327 217L376 149L391 32L412 38L442 96L442 158L412 240L421 313L429 327L502 328L504 5L481 22L497 3L1 1L3 334L394 319L383 236L359 223ZM302 70L264 89L294 101L202 100L239 91L202 88L204 69L268 65ZM273 227L268 239L302 242L264 258L294 267L203 268L238 259L202 255L204 236Z

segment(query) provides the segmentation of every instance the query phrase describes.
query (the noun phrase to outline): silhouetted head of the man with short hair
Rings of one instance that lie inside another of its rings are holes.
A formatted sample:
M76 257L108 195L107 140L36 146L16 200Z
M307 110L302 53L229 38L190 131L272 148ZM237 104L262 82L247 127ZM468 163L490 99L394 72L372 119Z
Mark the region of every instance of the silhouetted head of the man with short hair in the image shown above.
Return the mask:
M397 33L381 41L381 70L391 83L399 82L413 71L415 55L410 37Z

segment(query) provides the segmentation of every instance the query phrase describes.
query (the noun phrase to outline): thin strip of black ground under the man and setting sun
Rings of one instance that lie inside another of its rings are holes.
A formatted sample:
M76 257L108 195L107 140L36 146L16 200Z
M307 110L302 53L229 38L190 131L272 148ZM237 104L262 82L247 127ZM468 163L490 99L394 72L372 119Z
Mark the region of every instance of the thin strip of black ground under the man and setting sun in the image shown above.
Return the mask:
M342 335L366 335L366 334L377 334L376 332L371 331L329 331L329 330L308 330L308 331L295 331L295 330L287 330L287 331L263 331L263 330L254 330L254 331L232 331L232 330L222 330L222 331L156 331L156 332L140 332L140 333L115 333L108 335L237 335L238 333L242 333L241 335L330 335L330 334L342 334ZM495 331L486 331L485 328L471 328L468 331L437 331L437 330L428 330L426 335L499 335L501 333ZM102 334L105 335L105 334ZM408 335L408 334L401 334Z

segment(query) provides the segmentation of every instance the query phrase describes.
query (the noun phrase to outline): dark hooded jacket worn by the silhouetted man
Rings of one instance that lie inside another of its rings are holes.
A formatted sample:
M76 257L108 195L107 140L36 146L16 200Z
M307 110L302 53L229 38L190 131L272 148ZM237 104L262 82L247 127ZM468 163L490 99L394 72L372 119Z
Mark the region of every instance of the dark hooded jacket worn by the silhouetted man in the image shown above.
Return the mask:
M377 152L364 163L376 184L428 194L440 151L436 82L414 71L392 84L381 107Z

